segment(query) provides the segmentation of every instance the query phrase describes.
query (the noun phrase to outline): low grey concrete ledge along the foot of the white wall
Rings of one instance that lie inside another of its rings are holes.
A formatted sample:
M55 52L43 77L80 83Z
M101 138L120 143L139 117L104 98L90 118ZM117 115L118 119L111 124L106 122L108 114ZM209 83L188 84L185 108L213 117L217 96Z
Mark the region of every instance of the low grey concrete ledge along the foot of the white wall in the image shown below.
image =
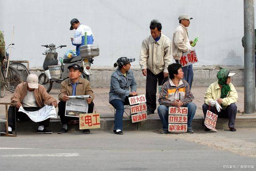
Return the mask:
M194 80L192 86L194 87L208 87L211 83L216 82L217 72L221 68L227 68L232 73L237 73L232 77L232 84L235 86L244 85L244 68L242 67L226 67L226 66L195 66ZM92 76L90 82L93 88L109 87L110 76L114 72L113 67L92 67ZM146 87L146 77L142 75L140 67L132 67L138 87ZM42 68L32 68L31 73L41 74ZM53 84L54 88L59 88L60 84Z

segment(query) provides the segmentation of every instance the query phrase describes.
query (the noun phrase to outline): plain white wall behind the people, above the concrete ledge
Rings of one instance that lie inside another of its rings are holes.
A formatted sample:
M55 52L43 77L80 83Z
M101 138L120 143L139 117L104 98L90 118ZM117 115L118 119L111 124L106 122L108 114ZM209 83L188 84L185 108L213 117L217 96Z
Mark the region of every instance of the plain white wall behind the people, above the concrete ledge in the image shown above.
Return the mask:
M171 39L181 13L194 18L188 32L191 40L199 36L197 65L244 65L243 0L0 0L0 7L6 44L15 26L12 59L29 60L31 67L42 66L42 44L66 44L58 50L60 56L75 48L70 42L72 18L92 28L100 47L94 66L113 66L121 56L136 58L138 66L150 21L158 19Z

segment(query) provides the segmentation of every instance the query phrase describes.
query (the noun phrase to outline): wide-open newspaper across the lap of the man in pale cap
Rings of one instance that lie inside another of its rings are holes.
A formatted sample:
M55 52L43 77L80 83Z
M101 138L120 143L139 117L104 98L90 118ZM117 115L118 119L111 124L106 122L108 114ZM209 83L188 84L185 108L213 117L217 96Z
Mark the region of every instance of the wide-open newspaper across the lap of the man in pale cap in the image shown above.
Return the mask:
M44 121L50 117L57 118L55 107L50 105L45 105L38 111L26 111L20 106L19 111L26 113L34 122Z

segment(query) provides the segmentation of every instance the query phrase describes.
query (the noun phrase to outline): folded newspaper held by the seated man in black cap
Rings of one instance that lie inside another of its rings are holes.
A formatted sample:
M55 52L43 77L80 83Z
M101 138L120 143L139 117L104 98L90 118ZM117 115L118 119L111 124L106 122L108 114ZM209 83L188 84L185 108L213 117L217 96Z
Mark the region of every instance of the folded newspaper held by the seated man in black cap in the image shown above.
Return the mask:
M87 99L90 95L71 95L66 101L65 116L79 117L82 113L88 112Z

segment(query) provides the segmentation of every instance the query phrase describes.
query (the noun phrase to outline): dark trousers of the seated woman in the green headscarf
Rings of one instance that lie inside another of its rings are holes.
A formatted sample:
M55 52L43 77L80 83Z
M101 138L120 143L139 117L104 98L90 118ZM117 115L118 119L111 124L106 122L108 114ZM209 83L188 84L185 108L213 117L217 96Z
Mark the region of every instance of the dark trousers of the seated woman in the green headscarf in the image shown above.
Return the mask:
M203 104L204 118L206 117L207 110L209 110L209 106L206 103L204 103ZM236 119L236 111L237 111L236 103L231 103L228 107L226 107L226 109L220 110L220 112L218 112L216 109L214 110L214 107L211 106L210 111L218 115L218 118L228 118L228 127L230 128L235 127L235 119Z

